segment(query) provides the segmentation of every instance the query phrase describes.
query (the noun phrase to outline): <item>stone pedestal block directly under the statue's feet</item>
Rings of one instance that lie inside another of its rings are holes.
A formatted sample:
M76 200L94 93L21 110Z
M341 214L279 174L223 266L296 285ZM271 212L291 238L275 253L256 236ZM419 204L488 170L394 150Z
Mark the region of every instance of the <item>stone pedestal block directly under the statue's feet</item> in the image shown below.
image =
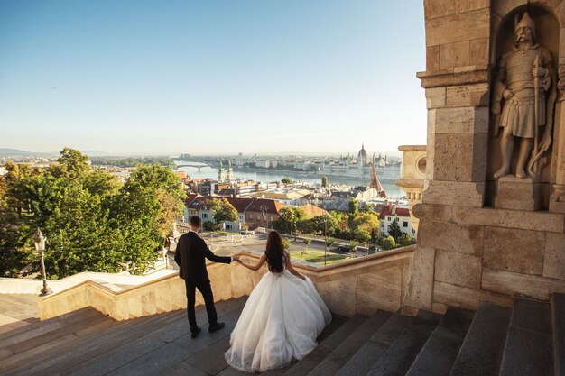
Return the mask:
M542 183L532 179L505 176L496 179L496 208L517 210L540 210L543 206Z

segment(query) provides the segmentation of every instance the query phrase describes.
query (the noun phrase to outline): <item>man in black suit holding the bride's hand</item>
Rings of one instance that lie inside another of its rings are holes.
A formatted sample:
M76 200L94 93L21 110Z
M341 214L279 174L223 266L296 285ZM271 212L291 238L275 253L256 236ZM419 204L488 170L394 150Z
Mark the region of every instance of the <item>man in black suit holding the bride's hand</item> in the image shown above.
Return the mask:
M194 311L194 294L196 289L199 289L206 303L206 313L208 313L209 323L208 331L214 333L225 326L224 323L218 323L218 314L216 313L216 307L214 307L214 296L212 295L210 280L208 279L205 258L209 261L223 263L238 261L239 258L236 256L217 256L208 249L206 242L198 235L198 231L202 227L202 220L199 216L191 216L189 225L190 231L187 234L181 235L179 238L177 251L174 254L174 261L176 261L181 268L179 276L186 284L190 333L192 338L196 338L201 330L196 323L196 313Z

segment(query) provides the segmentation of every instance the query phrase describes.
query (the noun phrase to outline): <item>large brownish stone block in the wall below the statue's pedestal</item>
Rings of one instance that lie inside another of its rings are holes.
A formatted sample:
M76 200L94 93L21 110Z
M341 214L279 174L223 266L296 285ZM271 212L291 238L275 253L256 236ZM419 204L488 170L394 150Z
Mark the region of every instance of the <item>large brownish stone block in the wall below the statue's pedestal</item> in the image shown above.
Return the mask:
M541 275L545 233L485 227L483 265L499 271Z

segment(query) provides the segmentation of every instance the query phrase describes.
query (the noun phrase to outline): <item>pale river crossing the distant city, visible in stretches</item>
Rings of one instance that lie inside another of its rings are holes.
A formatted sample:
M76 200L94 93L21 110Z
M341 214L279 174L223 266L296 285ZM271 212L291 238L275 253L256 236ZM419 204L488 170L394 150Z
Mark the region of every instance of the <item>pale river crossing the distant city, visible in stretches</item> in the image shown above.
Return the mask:
M177 162L177 164L191 164L195 166L203 166L203 163L200 162L190 162L181 160ZM181 167L179 170L183 171L190 178L211 178L211 179L218 179L218 169L212 167L201 167L200 171L196 167ZM234 168L234 177L236 179L251 179L255 181L267 182L267 181L279 181L282 178L289 177L294 179L295 181L303 181L306 183L320 183L321 176L320 175L309 175L305 173L295 172L295 171L281 171L281 170L269 170L269 171L261 171L261 170L237 170ZM361 186L367 185L369 183L368 179L356 179L356 178L349 178L349 177L336 177L336 176L329 176L328 177L329 184L345 184L348 186ZM383 182L381 184L386 191L386 195L391 198L395 197L403 197L404 191L399 188L393 182Z

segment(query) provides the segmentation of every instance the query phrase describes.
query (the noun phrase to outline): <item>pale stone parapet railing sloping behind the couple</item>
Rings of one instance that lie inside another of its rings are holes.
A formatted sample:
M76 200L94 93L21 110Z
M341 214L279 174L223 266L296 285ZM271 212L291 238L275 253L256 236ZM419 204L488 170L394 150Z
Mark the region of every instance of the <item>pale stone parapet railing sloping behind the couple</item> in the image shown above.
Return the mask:
M314 267L296 263L320 291L329 309L338 315L371 314L375 309L395 311L403 306L415 246L375 253L358 259ZM254 253L239 253L247 262L258 260ZM249 271L239 264L208 264L208 274L216 300L249 295L266 272ZM197 294L197 304L203 300ZM113 289L95 280L55 291L39 298L40 319L94 307L115 318L126 320L186 307L185 287L176 271L130 289Z

